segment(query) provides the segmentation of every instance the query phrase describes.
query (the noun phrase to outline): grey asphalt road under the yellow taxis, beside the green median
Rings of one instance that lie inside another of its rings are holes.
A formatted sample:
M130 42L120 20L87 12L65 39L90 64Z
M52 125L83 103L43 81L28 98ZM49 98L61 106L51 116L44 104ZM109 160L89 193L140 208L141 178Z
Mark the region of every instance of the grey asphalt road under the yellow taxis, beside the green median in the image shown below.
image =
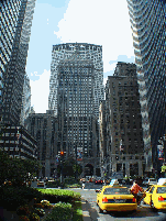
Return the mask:
M86 183L85 189L73 189L77 192L81 194L81 197L86 200L88 212L91 217L91 220L96 221L124 221L124 220L133 220L133 221L165 221L166 213L164 212L153 212L148 206L142 206L137 208L136 212L120 212L120 213L111 213L104 212L103 214L99 213L99 209L96 202L97 194L95 189L100 189L101 185L88 184Z

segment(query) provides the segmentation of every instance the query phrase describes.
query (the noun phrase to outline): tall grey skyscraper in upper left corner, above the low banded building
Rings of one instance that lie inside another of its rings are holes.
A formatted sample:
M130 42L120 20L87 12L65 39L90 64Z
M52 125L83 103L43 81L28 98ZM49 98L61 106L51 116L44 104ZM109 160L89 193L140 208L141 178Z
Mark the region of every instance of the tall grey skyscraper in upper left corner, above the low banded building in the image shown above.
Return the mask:
M19 124L35 0L2 1L0 117Z

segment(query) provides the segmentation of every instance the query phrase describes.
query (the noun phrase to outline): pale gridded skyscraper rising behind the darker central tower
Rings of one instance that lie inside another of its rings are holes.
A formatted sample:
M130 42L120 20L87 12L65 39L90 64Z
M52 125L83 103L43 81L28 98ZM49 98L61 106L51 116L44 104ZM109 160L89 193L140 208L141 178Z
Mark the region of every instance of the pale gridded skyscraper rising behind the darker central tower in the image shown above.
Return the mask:
M69 58L75 51L79 51L82 59L89 59L95 66L95 114L99 115L100 100L104 97L102 46L87 43L67 43L53 46L48 108L57 114L57 65L60 60Z

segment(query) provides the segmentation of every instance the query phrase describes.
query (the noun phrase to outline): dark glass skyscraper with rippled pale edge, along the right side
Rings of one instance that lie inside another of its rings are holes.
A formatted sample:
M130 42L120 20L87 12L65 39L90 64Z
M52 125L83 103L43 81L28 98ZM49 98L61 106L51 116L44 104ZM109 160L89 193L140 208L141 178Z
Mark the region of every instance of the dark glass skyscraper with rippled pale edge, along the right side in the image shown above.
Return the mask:
M165 1L128 0L140 89L146 172L165 133Z

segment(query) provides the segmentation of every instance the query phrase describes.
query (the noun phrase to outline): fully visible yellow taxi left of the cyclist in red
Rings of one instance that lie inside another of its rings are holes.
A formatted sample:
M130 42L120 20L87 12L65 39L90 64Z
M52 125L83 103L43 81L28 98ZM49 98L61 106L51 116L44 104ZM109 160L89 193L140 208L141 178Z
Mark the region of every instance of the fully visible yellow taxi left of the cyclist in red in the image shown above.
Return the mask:
M120 185L109 185L102 187L97 194L97 205L99 212L106 211L136 211L136 198L130 192L128 187Z

